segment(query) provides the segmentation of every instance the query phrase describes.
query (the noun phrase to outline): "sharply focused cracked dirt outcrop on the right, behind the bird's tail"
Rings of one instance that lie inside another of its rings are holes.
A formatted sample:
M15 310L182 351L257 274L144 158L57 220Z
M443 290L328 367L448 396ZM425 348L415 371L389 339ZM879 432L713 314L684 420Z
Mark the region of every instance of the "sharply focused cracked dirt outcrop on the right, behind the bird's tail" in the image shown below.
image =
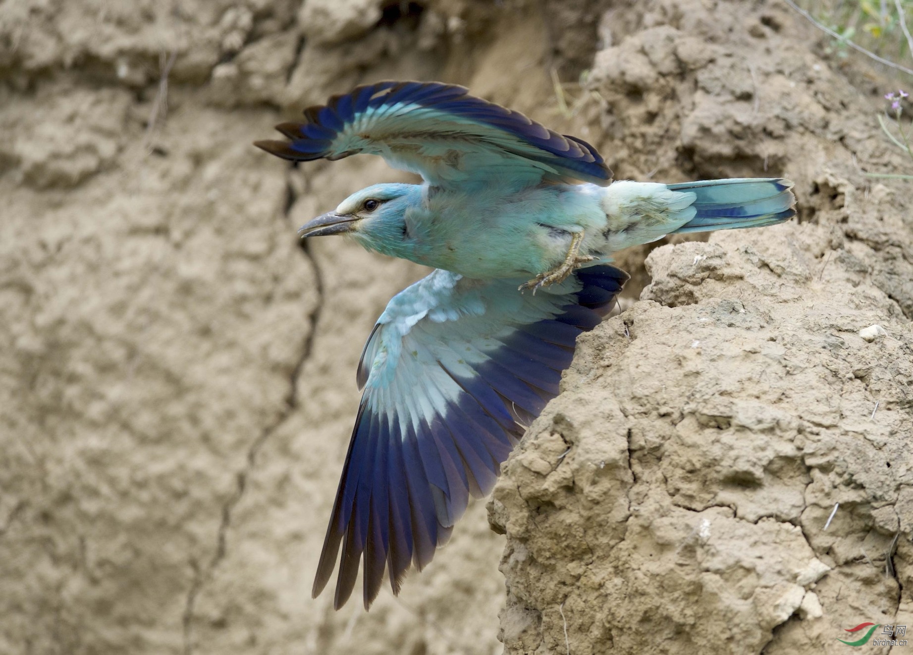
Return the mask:
M913 195L863 174L905 165L876 85L789 11L606 14L617 173L784 175L799 217L654 250L581 338L489 505L509 653L836 653L913 622Z

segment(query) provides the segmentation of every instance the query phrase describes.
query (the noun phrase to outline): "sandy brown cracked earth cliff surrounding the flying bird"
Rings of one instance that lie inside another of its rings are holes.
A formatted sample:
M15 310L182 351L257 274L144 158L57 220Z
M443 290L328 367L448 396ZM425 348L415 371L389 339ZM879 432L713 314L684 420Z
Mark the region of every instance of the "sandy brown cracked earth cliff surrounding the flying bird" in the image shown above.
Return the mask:
M820 45L775 2L0 4L0 653L913 634L913 188L863 174L905 172L890 80ZM335 613L310 583L354 366L423 271L295 238L402 174L250 142L384 78L467 84L622 178L786 175L799 218L624 253L632 302L488 504L506 541L476 503L398 599Z

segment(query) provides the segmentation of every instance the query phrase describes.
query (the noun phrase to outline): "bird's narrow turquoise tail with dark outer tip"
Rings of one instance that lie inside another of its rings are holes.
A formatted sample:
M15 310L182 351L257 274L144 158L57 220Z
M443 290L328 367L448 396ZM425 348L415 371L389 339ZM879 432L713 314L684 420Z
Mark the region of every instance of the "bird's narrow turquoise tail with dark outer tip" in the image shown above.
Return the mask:
M792 182L776 177L742 177L668 185L695 194L694 217L671 234L764 227L795 216Z

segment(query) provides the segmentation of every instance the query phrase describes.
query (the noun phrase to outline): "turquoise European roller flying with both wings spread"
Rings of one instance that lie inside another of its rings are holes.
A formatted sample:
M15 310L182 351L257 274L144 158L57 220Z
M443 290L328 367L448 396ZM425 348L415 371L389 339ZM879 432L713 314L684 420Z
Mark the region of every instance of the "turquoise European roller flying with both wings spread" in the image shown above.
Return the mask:
M362 402L313 595L339 560L334 606L361 563L364 606L384 573L444 544L469 496L558 394L577 336L614 306L614 252L668 234L782 223L792 183L619 181L589 143L439 82L365 85L257 146L292 161L380 154L420 185L373 185L307 223L436 269L394 296L362 352ZM610 184L612 183L612 184ZM340 554L341 550L341 556Z

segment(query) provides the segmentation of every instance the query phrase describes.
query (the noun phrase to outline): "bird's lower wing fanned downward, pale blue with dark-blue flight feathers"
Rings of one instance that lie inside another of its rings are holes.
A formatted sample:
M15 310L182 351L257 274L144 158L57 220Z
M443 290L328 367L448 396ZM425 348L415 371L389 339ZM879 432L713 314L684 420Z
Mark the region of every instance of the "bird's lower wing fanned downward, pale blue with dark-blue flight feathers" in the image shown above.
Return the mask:
M389 571L394 594L446 542L468 496L558 394L577 335L614 306L624 271L599 265L531 293L521 280L436 270L394 296L362 354L364 395L314 580L326 586L342 547L335 607L364 562L364 605Z

